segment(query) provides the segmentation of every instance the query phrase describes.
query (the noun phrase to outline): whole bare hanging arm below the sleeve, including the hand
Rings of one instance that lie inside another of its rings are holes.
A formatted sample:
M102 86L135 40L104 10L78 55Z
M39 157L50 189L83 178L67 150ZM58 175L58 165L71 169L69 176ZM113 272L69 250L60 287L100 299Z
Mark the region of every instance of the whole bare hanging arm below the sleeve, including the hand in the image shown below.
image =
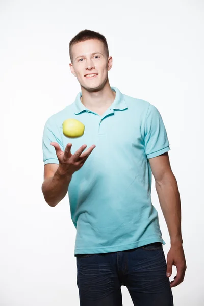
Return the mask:
M179 188L172 173L168 152L149 159L152 174L155 177L156 190L160 206L168 227L171 248L167 255L167 277L172 274L172 266L175 265L177 275L170 282L175 287L183 282L186 271L186 259L183 250L181 231L181 201Z

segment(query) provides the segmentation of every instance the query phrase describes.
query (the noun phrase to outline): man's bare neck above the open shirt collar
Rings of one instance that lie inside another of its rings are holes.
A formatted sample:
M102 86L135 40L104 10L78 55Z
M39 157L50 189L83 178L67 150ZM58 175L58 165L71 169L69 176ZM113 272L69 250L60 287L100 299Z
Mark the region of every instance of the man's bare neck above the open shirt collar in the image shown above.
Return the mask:
M100 91L89 92L83 87L81 102L89 110L102 115L115 100L116 92L110 87L109 82Z

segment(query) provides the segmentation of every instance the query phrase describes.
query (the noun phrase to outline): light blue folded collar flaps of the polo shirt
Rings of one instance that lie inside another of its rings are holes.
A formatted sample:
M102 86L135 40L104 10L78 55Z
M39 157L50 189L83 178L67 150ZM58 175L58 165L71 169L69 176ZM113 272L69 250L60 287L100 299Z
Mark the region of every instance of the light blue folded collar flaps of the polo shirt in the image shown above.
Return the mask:
M111 89L116 92L115 99L114 99L112 105L110 106L111 109L113 109L113 110L124 110L124 109L126 109L127 106L126 106L123 94L119 91L119 89L117 87L111 87ZM88 108L86 108L83 105L82 101L80 100L81 96L82 96L82 92L80 91L78 93L76 99L75 99L75 102L74 102L74 104L75 104L74 114L75 115L78 115L78 114L80 114L84 111L89 110Z

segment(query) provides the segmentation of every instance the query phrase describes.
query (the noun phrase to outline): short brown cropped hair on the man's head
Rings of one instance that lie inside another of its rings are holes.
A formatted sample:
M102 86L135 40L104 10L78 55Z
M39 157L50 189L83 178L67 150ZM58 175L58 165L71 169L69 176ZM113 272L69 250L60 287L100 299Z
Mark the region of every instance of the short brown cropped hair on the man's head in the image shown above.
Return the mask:
M89 40L89 39L98 39L102 41L104 43L106 55L107 57L109 57L109 49L108 49L106 37L98 32L86 29L86 30L82 30L77 35L75 35L69 42L69 56L70 56L71 62L72 62L71 47L78 42Z

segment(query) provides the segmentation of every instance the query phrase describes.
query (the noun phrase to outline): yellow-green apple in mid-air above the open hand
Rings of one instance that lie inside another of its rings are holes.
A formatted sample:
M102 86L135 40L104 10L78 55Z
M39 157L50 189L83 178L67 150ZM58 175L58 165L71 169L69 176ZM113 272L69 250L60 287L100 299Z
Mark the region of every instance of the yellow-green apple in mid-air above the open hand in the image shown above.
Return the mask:
M77 119L66 119L62 123L63 134L67 137L80 137L84 134L85 126Z

